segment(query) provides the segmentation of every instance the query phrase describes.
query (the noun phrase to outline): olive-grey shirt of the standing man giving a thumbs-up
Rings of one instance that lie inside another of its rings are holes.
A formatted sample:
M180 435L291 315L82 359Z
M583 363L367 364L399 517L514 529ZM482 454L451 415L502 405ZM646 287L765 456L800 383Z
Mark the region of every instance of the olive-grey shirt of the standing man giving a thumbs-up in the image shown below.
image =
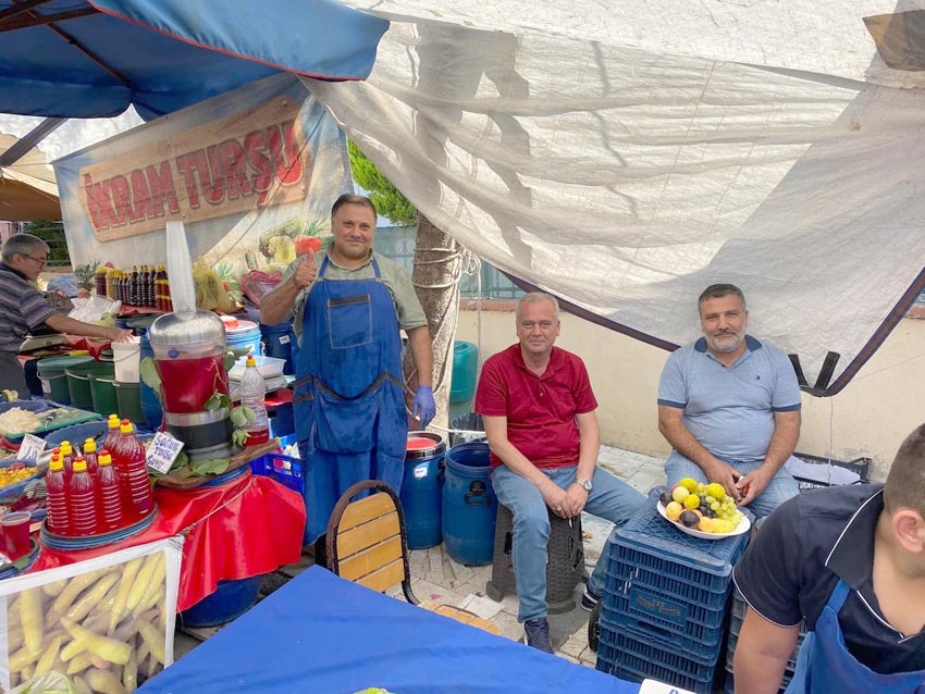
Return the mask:
M321 270L321 263L324 261L326 253L318 251L314 253L314 264ZM398 327L404 331L409 331L415 327L420 327L428 324L428 319L424 315L424 310L421 308L421 302L418 300L418 295L415 293L415 285L411 284L411 277L405 272L394 260L380 256L372 251L369 260L361 267L354 270L341 268L332 259L328 259L328 269L324 271L324 276L330 280L371 280L375 277L375 272L372 269L372 259L379 263L380 276L385 287L392 295L392 303L395 307L395 313L398 317ZM301 263L303 257L296 258L286 268L283 273L283 282L295 274L296 269ZM311 286L314 286L313 284ZM293 302L293 308L289 311L289 318L293 321L296 335L299 344L301 344L301 322L305 314L305 300L308 298L308 293L311 286L306 287L296 296Z

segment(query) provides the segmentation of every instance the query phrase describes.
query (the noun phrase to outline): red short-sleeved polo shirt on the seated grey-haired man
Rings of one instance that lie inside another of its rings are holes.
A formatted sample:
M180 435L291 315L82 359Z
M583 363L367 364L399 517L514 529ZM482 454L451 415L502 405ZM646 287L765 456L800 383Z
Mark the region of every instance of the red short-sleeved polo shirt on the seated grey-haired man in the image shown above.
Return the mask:
M538 376L523 363L520 344L489 358L476 391L476 412L507 418L507 438L538 468L578 464L576 414L597 409L580 358L553 347ZM503 464L491 455L492 469Z

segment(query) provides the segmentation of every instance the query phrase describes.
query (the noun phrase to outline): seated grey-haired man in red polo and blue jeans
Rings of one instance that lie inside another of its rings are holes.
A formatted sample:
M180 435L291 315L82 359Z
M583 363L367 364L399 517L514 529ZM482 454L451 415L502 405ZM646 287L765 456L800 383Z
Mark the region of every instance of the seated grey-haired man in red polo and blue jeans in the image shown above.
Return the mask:
M517 305L520 340L482 367L476 411L491 447L492 486L514 516L514 575L518 621L527 643L553 653L546 621L547 508L562 518L588 511L622 525L645 497L597 469L601 434L584 362L555 347L555 297L534 292ZM594 568L582 608L604 591L605 560Z

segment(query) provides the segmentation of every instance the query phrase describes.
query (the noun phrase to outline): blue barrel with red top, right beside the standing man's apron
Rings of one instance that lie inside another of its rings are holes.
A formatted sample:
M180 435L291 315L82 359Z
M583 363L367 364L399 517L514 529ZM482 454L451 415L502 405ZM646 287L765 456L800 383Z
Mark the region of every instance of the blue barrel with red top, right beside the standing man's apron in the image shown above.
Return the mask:
M441 468L446 444L440 434L409 432L405 454L405 476L398 498L405 511L408 547L424 549L440 544Z

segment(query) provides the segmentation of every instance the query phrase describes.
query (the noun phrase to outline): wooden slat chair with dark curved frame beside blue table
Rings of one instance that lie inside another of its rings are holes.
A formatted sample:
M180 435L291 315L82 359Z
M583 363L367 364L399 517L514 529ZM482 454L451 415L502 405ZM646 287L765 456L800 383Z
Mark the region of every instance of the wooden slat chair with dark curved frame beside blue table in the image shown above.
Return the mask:
M367 491L373 493L354 500ZM405 513L398 496L385 482L357 482L344 493L328 521L326 548L328 569L343 579L380 593L400 582L405 599L411 605L501 633L496 624L468 610L418 599L411 590Z

